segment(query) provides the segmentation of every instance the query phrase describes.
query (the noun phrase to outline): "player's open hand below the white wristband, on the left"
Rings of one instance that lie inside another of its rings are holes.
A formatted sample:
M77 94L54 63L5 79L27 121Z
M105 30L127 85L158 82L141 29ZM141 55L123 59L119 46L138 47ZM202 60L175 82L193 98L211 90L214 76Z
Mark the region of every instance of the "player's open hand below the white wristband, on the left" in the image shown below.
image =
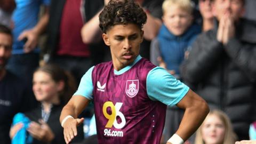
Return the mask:
M66 143L69 143L77 135L77 126L84 122L84 118L68 118L63 124L64 138Z

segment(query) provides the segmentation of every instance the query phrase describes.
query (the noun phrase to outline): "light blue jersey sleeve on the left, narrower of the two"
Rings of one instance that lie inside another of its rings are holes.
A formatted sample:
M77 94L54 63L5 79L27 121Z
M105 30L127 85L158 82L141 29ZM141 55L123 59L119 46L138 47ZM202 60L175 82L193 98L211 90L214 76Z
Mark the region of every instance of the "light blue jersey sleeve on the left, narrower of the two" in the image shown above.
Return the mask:
M84 76L81 78L81 82L78 86L77 91L74 93L75 95L82 95L83 97L92 100L92 91L93 91L93 84L92 84L92 70L94 66L91 67Z

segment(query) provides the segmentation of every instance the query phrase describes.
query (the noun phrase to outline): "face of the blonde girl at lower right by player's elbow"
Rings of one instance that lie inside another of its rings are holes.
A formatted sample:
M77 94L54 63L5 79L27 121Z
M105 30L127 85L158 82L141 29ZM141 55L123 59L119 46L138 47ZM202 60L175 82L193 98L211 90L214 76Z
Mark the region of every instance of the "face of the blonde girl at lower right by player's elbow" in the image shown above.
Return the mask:
M202 125L202 138L205 144L223 143L225 125L217 115L208 115Z

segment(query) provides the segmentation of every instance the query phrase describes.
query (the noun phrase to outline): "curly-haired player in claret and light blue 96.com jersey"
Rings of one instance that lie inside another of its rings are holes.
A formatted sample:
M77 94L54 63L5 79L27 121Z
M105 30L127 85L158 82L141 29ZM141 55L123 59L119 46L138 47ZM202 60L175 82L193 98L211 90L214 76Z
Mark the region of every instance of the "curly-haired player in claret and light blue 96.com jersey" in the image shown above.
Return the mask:
M110 1L99 15L102 37L112 61L90 68L63 108L60 122L69 143L77 118L94 103L99 143L159 143L166 105L185 109L178 131L168 143L183 143L209 112L207 103L188 86L139 55L146 13L133 1Z

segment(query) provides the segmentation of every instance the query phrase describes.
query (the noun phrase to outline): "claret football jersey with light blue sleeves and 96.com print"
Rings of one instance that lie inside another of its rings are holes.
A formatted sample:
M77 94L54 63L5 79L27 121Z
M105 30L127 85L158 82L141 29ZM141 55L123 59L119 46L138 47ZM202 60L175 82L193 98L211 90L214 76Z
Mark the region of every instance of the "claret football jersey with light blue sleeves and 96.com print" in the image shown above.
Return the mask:
M119 71L111 61L92 67L74 95L93 101L99 143L159 143L166 105L177 104L188 89L139 55Z

